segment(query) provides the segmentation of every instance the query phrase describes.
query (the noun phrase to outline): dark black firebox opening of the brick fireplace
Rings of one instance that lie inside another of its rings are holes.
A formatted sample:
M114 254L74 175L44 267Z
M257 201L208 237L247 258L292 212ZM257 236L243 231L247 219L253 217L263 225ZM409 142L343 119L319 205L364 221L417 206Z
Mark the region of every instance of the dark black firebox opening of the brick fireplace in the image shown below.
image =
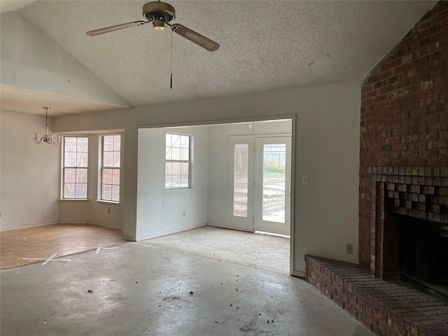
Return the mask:
M448 225L400 217L402 281L448 302Z

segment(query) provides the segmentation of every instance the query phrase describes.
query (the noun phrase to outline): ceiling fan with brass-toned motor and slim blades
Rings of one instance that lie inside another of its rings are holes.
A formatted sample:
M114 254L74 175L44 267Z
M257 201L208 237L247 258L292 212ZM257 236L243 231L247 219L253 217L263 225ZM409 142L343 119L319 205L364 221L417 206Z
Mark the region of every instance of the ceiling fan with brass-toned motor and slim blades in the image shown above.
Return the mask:
M163 30L165 26L169 26L175 33L185 37L197 45L200 45L206 50L215 51L219 48L218 43L211 41L210 38L198 34L196 31L193 31L183 25L179 25L178 23L171 25L169 22L172 22L172 20L176 18L176 10L169 3L161 2L160 0L145 3L143 6L143 16L148 21L127 22L122 25L87 31L85 34L87 36L97 36L99 34L109 33L111 31L129 27L141 26L145 23L153 22L154 29Z

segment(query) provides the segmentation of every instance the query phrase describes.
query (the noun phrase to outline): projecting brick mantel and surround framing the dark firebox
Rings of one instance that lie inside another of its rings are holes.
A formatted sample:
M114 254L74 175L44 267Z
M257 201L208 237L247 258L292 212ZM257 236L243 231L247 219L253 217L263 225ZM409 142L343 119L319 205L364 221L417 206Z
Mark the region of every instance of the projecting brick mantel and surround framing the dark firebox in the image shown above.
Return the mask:
M370 195L374 196L370 272L388 279L400 272L400 239L405 244L407 227L422 227L422 235L423 227L440 228L442 237L448 230L448 168L369 167L367 172L372 175ZM412 225L417 223L414 218L419 219L418 225ZM435 244L437 234L433 236Z

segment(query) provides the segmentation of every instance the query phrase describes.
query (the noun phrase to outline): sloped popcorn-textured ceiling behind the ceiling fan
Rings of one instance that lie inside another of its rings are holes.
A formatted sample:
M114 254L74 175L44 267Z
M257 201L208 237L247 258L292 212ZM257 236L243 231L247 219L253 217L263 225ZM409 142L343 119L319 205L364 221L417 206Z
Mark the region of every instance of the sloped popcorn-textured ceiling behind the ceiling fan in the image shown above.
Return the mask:
M361 80L436 1L169 1L215 52L151 24L85 36L143 20L146 2L36 1L19 13L142 106Z

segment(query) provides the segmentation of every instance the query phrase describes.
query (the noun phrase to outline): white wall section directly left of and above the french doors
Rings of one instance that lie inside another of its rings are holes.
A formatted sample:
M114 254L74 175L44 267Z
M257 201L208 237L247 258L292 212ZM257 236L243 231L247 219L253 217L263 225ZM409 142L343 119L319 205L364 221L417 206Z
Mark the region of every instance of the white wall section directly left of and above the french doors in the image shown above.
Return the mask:
M208 216L209 225L226 227L226 190L228 186L228 137L255 136L263 134L291 134L292 121L211 125L209 126L209 191Z

